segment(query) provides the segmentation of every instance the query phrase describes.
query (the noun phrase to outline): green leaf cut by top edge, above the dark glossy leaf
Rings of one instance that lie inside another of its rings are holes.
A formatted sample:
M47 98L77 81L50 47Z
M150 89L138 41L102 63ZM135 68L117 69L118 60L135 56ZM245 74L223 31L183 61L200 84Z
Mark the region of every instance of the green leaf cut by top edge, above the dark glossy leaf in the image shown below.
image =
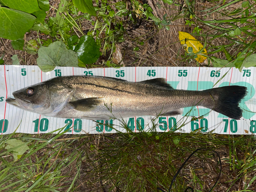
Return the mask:
M82 13L89 13L90 15L97 16L92 0L73 0L73 4Z

